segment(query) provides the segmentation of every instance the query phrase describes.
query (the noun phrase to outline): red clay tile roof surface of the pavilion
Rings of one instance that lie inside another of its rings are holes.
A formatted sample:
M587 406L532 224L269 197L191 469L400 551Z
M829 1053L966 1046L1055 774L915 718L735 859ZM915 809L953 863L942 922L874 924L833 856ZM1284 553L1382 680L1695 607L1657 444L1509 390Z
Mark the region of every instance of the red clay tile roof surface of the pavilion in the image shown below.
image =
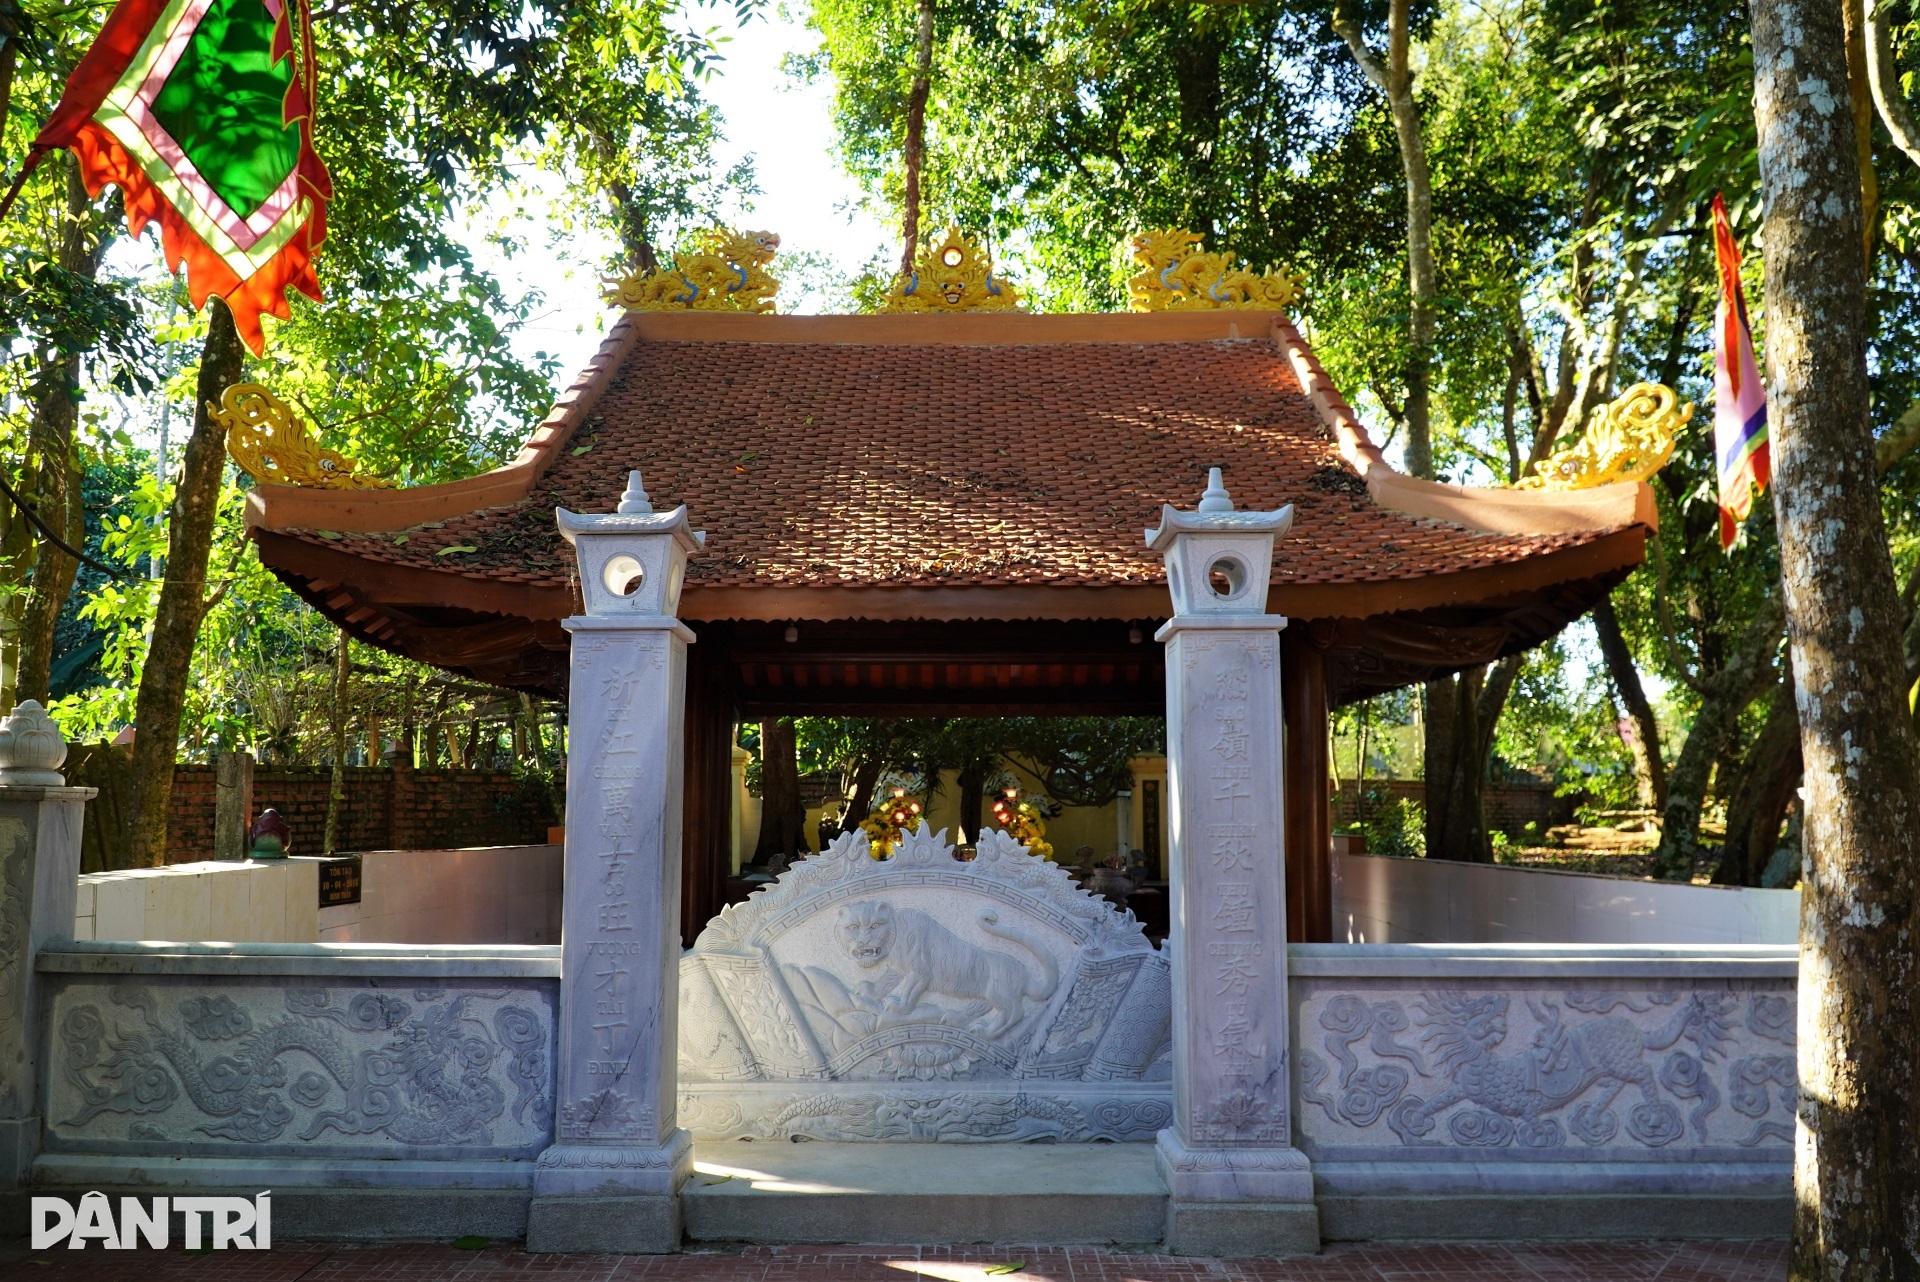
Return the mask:
M1210 464L1242 507L1294 505L1275 585L1421 580L1613 532L1486 534L1380 507L1350 463L1373 459L1329 428L1263 320L1258 338L1142 324L1158 338L1004 344L902 342L920 317L885 342L820 342L803 324L780 342L780 320L801 319L758 320L755 342L628 338L516 503L378 534L257 524L367 562L559 589L572 557L553 509L611 512L637 466L655 507L685 503L707 530L689 597L1160 583L1142 532L1162 503L1192 507Z

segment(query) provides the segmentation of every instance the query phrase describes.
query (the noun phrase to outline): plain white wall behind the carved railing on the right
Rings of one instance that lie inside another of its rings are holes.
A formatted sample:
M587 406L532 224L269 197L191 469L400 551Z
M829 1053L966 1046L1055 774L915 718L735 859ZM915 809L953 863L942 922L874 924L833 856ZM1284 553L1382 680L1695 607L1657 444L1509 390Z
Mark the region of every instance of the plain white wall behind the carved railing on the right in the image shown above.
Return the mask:
M1332 923L1350 944L1793 944L1799 890L1336 854Z

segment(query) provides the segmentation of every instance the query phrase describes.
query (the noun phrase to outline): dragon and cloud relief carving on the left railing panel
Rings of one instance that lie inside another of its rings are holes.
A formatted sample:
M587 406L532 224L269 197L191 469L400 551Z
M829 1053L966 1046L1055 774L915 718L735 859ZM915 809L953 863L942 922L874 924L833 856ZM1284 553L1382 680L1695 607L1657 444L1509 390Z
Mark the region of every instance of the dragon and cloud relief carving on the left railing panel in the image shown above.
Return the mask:
M438 990L415 990L413 1002L359 992L336 1006L332 990L290 988L284 1013L257 1019L232 992L196 992L171 1019L152 990L125 983L108 1000L131 1021L94 1002L67 1004L58 1036L71 1115L58 1125L184 1111L179 1121L200 1136L269 1144L303 1115L296 1138L305 1142L378 1136L409 1148L493 1146L505 1115L516 1146L551 1127L543 1008Z

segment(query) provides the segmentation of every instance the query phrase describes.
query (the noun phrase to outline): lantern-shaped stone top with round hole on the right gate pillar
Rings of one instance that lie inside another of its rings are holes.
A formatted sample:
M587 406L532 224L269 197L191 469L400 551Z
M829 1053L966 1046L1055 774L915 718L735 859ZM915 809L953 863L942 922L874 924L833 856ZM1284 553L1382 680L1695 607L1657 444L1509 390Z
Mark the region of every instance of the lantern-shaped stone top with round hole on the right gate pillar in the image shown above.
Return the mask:
M1294 505L1275 512L1236 512L1219 468L1208 468L1200 509L1160 509L1146 547L1167 558L1175 614L1265 614L1273 578L1273 539L1294 524Z

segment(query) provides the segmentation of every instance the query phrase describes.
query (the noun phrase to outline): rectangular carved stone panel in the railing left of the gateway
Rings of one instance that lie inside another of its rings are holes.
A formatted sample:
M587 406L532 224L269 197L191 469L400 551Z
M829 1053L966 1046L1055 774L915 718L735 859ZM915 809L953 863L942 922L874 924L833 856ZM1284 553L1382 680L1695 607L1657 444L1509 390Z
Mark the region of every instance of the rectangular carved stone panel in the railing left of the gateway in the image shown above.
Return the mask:
M553 985L75 979L50 1004L48 1148L534 1157Z

